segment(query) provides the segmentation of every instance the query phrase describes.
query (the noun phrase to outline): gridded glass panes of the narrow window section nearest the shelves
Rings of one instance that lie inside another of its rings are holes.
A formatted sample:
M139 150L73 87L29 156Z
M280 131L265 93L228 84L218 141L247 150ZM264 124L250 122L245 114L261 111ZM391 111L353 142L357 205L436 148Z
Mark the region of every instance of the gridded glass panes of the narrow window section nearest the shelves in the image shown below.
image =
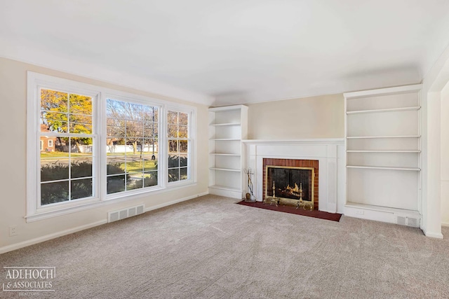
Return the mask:
M168 135L168 183L190 178L189 171L189 113L169 110Z

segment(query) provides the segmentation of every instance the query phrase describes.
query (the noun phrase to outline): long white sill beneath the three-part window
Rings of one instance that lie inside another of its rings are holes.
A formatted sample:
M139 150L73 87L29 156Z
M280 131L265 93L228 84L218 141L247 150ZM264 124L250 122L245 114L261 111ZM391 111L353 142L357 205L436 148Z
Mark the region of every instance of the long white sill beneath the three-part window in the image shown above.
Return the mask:
M43 209L41 211L36 211L35 214L27 215L25 216L27 223L34 222L34 221L41 221L48 218L53 218L57 216L67 215L76 213L79 211L86 211L90 209L95 209L98 207L104 207L110 204L116 204L119 202L127 202L131 200L138 200L138 199L144 199L145 197L152 196L152 195L158 195L167 193L173 190L177 190L180 188L185 188L189 186L196 186L196 182L189 181L189 182L182 182L182 183L176 183L175 185L168 185L167 188L156 188L152 190L147 190L144 192L134 193L134 194L128 194L128 195L121 195L121 196L115 196L115 197L109 197L105 200L100 200L98 198L86 200L85 202L79 202L79 204L76 204L76 206L71 207L61 207L60 209ZM105 214L106 218L106 214Z

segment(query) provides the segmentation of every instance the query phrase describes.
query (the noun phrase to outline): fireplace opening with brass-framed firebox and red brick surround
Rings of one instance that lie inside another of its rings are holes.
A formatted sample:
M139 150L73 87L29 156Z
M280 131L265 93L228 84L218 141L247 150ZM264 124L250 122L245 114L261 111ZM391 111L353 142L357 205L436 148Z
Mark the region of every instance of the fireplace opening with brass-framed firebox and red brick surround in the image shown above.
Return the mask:
M318 160L263 159L263 202L319 209Z

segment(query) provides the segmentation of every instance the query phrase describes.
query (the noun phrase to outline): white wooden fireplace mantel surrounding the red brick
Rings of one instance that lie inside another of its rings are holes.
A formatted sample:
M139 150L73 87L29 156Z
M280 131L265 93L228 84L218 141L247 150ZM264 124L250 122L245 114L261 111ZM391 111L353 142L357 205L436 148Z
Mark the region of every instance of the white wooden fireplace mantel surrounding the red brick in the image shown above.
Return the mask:
M346 200L344 139L246 139L243 165L253 172L253 191L262 201L263 159L319 161L319 210L343 213ZM246 177L243 186L246 186Z

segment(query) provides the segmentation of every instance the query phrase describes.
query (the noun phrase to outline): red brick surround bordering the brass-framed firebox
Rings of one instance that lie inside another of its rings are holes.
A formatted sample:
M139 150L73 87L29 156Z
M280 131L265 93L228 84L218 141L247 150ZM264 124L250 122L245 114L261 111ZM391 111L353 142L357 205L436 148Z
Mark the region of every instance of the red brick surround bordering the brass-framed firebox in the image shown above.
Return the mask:
M276 159L276 158L264 158L263 159L263 179L262 179L262 200L265 201L265 177L267 176L266 174L266 167L267 166L285 166L285 167L314 167L314 173L315 173L315 178L314 178L314 209L316 211L318 211L319 209L319 204L318 204L318 199L319 199L319 188L318 188L318 183L319 183L319 179L318 179L318 169L319 169L319 161L318 160L297 160L297 159Z

